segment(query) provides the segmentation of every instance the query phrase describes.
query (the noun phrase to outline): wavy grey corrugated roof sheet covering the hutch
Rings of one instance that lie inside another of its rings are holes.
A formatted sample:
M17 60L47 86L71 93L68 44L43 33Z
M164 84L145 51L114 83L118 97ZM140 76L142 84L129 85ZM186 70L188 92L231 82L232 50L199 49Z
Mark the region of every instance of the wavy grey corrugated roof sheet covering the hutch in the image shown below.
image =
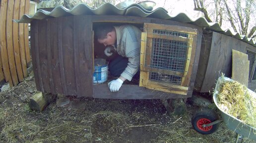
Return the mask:
M71 10L63 6L57 6L51 12L45 10L38 10L33 16L23 15L19 20L14 21L17 23L30 23L33 19L45 19L48 17L62 17L69 15L127 15L179 21L204 27L206 30L235 37L256 47L256 42L254 42L253 39L247 38L246 36L240 36L238 33L233 34L229 29L223 30L218 23L209 23L203 17L192 20L185 13L179 13L178 15L172 17L168 14L168 11L162 7L156 8L153 11L148 11L138 4L131 4L124 9L119 9L111 3L105 3L97 9L91 9L89 6L83 3L75 6Z

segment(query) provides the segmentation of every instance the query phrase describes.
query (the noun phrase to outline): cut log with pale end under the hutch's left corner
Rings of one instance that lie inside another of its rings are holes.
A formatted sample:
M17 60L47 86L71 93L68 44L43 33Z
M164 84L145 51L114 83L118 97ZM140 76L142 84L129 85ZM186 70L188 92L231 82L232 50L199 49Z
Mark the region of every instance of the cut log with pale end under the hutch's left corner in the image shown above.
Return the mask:
M55 101L56 97L57 95L39 92L30 98L28 105L32 110L43 111L45 107Z

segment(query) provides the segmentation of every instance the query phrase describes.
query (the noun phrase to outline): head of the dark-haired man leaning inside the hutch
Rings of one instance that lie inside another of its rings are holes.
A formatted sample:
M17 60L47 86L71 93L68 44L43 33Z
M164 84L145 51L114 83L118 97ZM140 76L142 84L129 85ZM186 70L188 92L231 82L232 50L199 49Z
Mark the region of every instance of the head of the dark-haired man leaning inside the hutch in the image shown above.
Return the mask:
M116 43L117 34L113 26L101 26L95 30L95 35L99 43L113 45Z

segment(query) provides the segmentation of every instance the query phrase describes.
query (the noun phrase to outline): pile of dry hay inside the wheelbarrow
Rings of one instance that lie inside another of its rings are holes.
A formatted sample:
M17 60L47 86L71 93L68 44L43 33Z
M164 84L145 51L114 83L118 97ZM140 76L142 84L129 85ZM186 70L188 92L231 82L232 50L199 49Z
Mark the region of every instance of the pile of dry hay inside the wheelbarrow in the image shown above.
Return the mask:
M217 102L226 113L242 122L256 127L256 93L237 81L218 81Z

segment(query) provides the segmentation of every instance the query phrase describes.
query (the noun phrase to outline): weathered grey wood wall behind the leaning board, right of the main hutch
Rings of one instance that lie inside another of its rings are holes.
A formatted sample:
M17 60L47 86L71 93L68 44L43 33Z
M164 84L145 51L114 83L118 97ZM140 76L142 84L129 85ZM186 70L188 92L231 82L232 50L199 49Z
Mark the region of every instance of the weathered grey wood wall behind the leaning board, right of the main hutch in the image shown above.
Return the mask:
M212 91L222 72L225 76L231 77L232 49L244 52L246 47L245 44L241 44L242 42L233 37L213 32L209 61L200 92Z

